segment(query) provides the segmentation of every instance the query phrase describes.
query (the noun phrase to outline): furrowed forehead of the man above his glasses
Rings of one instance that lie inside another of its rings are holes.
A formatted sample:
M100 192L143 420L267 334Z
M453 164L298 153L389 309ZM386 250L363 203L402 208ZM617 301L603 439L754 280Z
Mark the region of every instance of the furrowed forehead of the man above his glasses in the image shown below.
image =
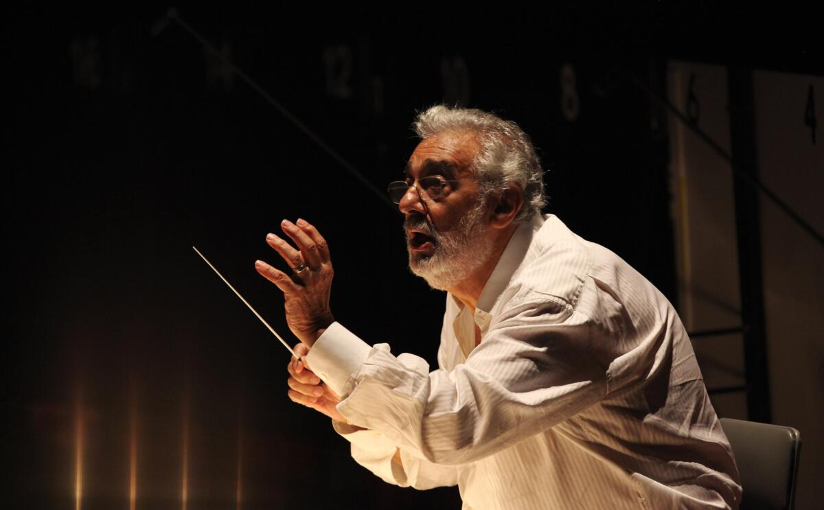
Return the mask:
M464 176L472 171L472 161L480 150L475 133L457 131L440 133L421 140L406 164L406 175L451 173Z

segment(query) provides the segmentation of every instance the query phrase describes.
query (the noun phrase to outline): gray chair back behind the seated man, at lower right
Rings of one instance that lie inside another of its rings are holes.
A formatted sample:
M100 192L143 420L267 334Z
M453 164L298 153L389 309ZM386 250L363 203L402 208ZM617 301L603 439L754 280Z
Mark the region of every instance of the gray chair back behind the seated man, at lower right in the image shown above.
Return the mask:
M733 447L744 496L741 510L791 510L801 435L792 427L721 419Z

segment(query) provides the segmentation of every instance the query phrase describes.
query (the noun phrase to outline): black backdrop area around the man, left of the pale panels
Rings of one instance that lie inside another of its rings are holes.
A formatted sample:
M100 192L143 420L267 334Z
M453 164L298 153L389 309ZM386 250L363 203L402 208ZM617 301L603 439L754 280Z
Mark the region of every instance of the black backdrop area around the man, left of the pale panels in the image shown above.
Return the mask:
M674 301L667 117L644 87L665 96L669 58L821 73L822 57L810 13L690 6L179 14L377 189L414 148L416 110L517 121L549 169L547 212ZM179 24L158 25L167 8L4 21L9 498L74 503L81 423L82 508L127 501L130 430L138 507L180 505L188 442L190 508L234 505L238 466L242 508L457 508L456 489L383 484L293 405L288 354L191 249L288 334L253 263L280 263L265 234L306 218L332 250L336 318L434 361L443 295L405 268L400 215Z

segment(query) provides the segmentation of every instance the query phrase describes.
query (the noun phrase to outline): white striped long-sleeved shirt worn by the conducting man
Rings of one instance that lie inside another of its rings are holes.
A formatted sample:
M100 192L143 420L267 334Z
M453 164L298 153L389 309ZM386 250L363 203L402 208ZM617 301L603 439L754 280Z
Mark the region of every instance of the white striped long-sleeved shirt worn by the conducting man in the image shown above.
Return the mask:
M355 461L391 484L457 484L464 508L737 508L741 499L672 305L551 215L517 228L474 315L447 294L437 370L339 323L307 362L342 396L340 414L368 429L335 423Z

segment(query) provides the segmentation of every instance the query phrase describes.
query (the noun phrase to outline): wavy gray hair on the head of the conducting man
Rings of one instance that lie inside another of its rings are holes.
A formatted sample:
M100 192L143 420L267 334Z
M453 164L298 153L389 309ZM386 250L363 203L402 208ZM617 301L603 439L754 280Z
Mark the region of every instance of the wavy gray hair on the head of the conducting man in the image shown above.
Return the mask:
M500 194L508 183L517 183L523 189L524 204L515 221L526 222L546 205L544 196L544 169L527 133L511 120L472 108L449 108L435 105L420 112L414 131L420 138L432 138L450 131L478 133L480 152L473 167L486 199Z

